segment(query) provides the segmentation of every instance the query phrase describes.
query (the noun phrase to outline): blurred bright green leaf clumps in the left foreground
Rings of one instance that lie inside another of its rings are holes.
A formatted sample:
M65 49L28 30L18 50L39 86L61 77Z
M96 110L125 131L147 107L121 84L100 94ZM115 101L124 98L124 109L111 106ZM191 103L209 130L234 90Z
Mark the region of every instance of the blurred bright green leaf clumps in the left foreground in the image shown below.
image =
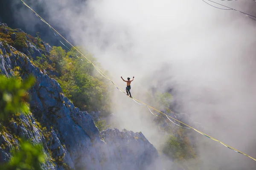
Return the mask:
M0 120L7 121L9 117L19 112L29 113L29 96L27 91L34 84L35 78L29 77L23 82L15 77L7 78L0 75ZM24 139L20 141L18 150L12 150L12 158L0 166L1 170L41 170L44 162L42 147L32 145Z

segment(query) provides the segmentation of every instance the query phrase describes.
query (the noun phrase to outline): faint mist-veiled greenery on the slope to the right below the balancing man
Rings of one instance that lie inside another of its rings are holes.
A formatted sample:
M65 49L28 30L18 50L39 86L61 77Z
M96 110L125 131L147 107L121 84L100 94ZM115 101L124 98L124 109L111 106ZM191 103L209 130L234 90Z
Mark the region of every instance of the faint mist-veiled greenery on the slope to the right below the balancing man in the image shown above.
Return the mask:
M153 93L149 91L148 102L154 105L155 108L160 108L163 113L176 114L171 110L172 94L168 92L156 91ZM195 146L192 145L189 137L190 131L172 124L163 114L158 114L155 122L166 133L166 142L162 145L161 153L174 160L177 167L188 169L184 165L184 161L196 158Z

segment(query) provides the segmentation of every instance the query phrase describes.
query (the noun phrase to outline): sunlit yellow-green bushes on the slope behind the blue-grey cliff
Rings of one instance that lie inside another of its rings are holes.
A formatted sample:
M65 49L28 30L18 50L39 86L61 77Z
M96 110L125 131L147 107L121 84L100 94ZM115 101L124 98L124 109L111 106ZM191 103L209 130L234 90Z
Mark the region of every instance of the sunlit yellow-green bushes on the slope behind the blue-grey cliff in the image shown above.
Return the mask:
M84 54L87 53L84 51ZM86 57L91 61L96 60L90 54ZM81 54L79 55L74 48L66 53L61 47L54 46L49 56L37 57L33 63L41 70L46 70L50 77L55 78L61 85L64 95L81 111L90 112L99 109L102 114L110 113L111 91L108 90L107 83L101 77L94 75L93 65L81 60Z

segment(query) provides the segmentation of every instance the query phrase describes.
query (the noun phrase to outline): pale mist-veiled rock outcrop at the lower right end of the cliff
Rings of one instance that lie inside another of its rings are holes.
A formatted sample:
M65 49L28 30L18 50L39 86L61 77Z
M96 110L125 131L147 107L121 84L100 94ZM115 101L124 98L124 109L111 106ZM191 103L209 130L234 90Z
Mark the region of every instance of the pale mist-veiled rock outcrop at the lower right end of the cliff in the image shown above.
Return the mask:
M108 161L105 168L131 170L155 170L154 162L158 158L156 148L148 142L143 133L118 129L107 129L101 132L102 139L108 147ZM161 169L161 168L160 168Z

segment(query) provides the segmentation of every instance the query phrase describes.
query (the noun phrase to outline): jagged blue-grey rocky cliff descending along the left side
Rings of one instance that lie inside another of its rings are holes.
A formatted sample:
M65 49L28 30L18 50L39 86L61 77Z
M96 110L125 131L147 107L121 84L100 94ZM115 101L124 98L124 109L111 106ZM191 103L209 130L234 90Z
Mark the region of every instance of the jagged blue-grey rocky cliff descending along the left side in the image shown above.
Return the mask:
M29 116L21 114L0 133L0 162L8 161L11 148L17 146L18 138L40 143L47 154L45 170L148 170L158 159L157 150L143 136L128 130L107 129L99 132L92 116L82 112L64 96L55 79L51 79L35 67L29 58L47 54L51 47L42 43L38 49L26 41L22 48L12 47L2 36L10 34L9 28L0 23L0 73L25 79L30 74L36 83L30 89ZM17 37L12 30L11 38Z

